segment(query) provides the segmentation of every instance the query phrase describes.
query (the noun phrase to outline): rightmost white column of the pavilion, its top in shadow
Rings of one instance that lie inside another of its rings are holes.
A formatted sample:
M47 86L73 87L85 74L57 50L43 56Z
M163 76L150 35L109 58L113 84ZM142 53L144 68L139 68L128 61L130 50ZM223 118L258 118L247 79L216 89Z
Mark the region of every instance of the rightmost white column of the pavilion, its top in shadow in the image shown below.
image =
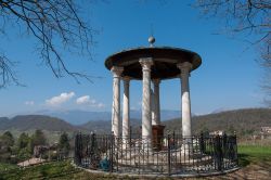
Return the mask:
M181 70L181 94L182 94L182 136L191 137L191 102L190 102L190 88L189 77L192 64L184 62L177 65Z

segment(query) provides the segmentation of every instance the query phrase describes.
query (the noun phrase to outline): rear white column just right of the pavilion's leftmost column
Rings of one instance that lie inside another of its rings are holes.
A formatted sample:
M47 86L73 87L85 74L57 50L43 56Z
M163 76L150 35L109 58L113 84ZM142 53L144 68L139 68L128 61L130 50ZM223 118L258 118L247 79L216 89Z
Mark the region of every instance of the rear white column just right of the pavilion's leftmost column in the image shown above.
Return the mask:
M124 147L128 146L128 137L130 130L130 102L129 102L130 79L124 78L124 107L122 107L122 139Z

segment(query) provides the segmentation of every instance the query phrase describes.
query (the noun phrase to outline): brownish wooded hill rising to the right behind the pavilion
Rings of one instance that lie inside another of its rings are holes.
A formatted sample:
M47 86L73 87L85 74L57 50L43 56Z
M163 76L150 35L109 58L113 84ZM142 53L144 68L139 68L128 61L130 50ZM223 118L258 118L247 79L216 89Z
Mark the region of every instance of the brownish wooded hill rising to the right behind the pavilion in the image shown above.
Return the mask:
M181 119L175 118L163 123L169 130L180 130ZM241 136L259 131L260 127L271 126L271 108L245 108L227 111L192 117L194 133L202 130L236 131Z

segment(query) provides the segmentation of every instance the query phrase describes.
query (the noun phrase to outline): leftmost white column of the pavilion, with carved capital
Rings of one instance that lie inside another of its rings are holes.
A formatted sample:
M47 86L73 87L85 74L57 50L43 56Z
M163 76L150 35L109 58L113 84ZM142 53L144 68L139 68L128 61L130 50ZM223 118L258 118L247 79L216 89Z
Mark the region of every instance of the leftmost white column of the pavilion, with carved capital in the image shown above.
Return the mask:
M112 131L115 137L119 137L120 129L120 75L124 72L122 67L113 66L113 105L112 105Z

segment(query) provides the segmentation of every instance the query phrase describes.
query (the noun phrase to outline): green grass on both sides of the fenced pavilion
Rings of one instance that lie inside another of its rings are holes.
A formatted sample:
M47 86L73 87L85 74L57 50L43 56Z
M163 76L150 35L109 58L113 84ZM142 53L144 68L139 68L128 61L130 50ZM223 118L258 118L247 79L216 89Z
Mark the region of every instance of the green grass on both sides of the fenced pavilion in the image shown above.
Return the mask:
M241 166L260 166L271 171L271 146L240 145L238 154ZM134 178L90 173L73 167L70 160L37 165L25 169L20 169L15 165L0 164L0 180L18 179L98 180Z

